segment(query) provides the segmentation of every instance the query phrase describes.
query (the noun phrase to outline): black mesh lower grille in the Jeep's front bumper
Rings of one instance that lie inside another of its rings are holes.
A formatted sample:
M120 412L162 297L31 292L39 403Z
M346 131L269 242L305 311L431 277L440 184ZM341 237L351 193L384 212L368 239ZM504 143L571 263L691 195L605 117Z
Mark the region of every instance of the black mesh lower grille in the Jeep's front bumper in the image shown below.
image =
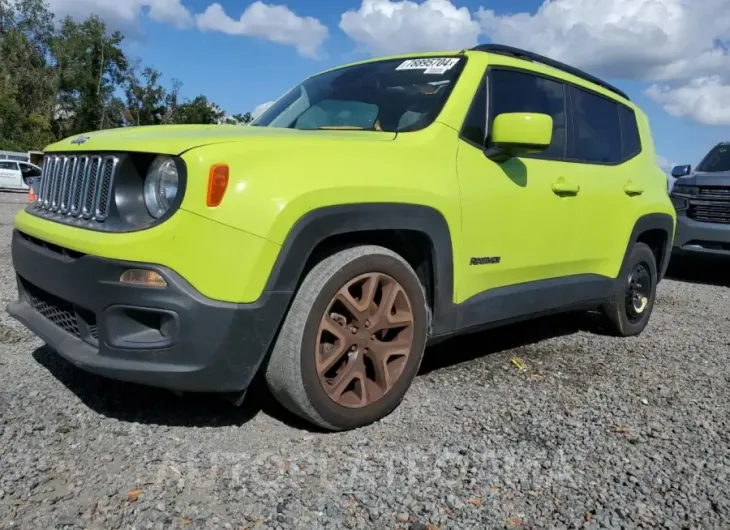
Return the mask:
M74 337L97 344L99 329L93 312L63 300L22 278L20 282L33 309ZM87 340L89 338L92 340Z

